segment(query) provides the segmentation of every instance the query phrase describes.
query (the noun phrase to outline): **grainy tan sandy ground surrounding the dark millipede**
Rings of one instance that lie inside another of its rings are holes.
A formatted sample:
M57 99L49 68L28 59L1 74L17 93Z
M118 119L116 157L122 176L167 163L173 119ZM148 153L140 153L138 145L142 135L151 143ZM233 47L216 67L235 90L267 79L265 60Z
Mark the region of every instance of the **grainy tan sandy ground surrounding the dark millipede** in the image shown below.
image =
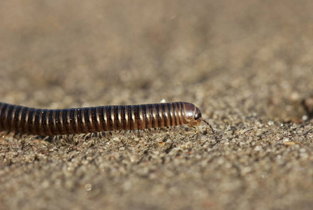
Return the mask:
M1 1L1 102L186 101L215 128L1 132L1 209L311 209L312 1ZM305 106L304 106L305 105Z

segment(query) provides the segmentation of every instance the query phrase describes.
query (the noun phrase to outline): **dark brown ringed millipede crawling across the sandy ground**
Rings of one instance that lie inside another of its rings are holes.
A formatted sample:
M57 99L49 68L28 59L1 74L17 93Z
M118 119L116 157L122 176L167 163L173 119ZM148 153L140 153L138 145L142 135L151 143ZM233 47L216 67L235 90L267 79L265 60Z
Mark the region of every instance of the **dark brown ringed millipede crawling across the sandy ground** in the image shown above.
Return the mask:
M0 129L36 135L145 130L176 125L198 126L203 118L194 104L173 102L71 109L34 109L0 102ZM212 126L210 126L213 134Z

